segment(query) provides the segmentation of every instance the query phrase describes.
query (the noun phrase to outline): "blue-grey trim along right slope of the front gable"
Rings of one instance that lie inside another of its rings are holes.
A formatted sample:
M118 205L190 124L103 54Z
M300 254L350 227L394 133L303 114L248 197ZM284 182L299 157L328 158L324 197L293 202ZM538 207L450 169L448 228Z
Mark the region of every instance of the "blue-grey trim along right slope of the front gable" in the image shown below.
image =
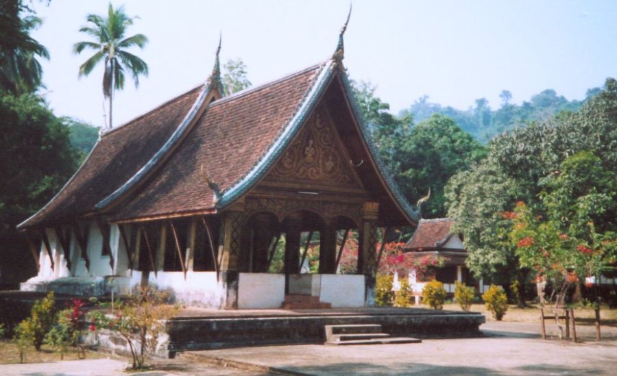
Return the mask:
M341 77L341 82L343 83L343 90L346 91L346 97L348 98L348 101L350 103L350 107L356 119L356 123L359 125L360 134L363 138L365 145L367 145L369 149L370 158L372 158L374 164L376 164L378 174L380 175L381 179L385 182L386 188L389 191L389 194L391 195L391 197L394 199L396 203L398 203L398 206L400 207L402 212L407 216L407 219L411 223L418 224L418 221L420 221L420 218L422 218L420 214L420 208L418 208L418 210L414 209L409 204L409 202L404 197L404 195L402 195L402 192L400 192L398 185L396 184L394 179L392 179L391 175L384 174L384 172L388 171L388 169L383 163L383 160L381 160L381 158L379 157L379 152L377 150L376 145L372 141L370 131L364 123L364 118L362 116L362 113L360 112L360 108L359 108L358 102L356 101L354 92L352 90L349 77L347 77L347 73L343 69L344 68L340 66L339 70L341 71L340 77Z

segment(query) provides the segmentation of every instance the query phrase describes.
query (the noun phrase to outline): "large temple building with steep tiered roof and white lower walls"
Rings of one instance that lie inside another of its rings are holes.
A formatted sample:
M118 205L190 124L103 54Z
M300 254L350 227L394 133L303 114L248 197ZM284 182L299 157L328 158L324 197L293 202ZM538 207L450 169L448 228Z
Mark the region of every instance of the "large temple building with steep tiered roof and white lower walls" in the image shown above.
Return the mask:
M101 134L19 225L38 264L22 289L104 295L150 284L219 309L278 308L291 295L373 305L378 228L413 226L420 208L377 156L343 32L328 60L228 96L217 50L203 85ZM357 273L337 274L349 231ZM319 267L301 274L307 232L319 237Z

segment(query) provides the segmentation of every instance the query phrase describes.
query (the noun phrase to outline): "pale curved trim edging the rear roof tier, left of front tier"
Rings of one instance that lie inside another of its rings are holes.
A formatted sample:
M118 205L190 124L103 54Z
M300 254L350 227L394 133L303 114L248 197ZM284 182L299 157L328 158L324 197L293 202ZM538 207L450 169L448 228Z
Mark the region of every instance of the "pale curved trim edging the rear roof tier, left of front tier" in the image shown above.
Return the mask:
M112 194L99 201L99 203L95 205L95 208L97 208L97 210L103 210L107 208L109 205L111 205L123 195L125 195L125 193L136 187L136 185L141 181L141 179L143 179L143 177L148 175L155 166L158 166L159 162L167 158L167 155L169 155L170 151L176 149L179 141L184 139L184 135L187 133L186 130L189 129L191 125L195 124L195 120L197 119L198 115L203 114L203 110L205 110L206 105L208 104L206 103L206 99L210 97L211 91L212 90L210 85L204 85L202 92L199 93L199 97L197 97L197 100L195 101L195 103L193 103L191 110L186 113L184 119L182 119L182 122L180 123L178 128L173 131L173 134L169 136L169 139L167 139L165 144L160 149L158 149L158 151L156 151L152 158L150 158L150 160L146 162L146 164L143 165L143 167L140 168L139 171L135 173L135 175L130 177L130 179L128 179L122 186L120 186L120 188L114 190Z

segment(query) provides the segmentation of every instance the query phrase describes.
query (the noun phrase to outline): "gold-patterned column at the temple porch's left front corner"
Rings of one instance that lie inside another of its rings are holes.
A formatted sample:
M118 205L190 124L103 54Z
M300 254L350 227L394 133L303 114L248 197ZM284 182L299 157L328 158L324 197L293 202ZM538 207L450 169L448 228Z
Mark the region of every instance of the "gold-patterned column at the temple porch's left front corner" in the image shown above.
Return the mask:
M244 201L237 201L223 212L221 223L221 241L219 241L220 281L223 286L221 308L238 309L238 257L242 244L242 227L244 225Z

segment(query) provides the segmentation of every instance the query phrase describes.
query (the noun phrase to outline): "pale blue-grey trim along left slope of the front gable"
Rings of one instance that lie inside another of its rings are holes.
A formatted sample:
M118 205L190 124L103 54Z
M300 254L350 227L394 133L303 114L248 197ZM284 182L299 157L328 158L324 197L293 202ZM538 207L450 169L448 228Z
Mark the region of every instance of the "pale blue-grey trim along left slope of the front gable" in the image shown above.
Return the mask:
M247 173L237 184L234 184L226 191L221 192L221 197L216 203L216 208L221 210L230 203L236 201L239 197L244 195L259 179L261 179L265 173L269 170L272 164L278 159L282 151L285 150L289 142L293 139L295 134L298 133L301 125L309 117L313 108L317 104L317 100L321 97L322 92L330 82L332 73L334 72L335 64L332 60L328 60L322 71L319 72L319 76L315 79L313 87L306 95L306 98L300 105L298 112L295 113L293 118L289 121L282 134L278 137L278 140L274 142L265 155L259 160L259 162Z

